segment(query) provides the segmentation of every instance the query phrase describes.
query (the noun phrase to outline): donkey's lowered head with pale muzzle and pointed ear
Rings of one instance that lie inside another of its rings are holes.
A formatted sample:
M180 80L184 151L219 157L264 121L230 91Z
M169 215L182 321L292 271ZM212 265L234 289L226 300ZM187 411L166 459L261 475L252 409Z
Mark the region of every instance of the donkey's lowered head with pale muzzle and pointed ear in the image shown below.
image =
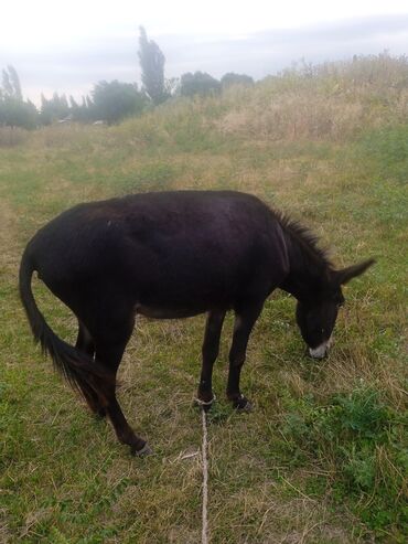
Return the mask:
M374 259L330 273L329 282L316 296L298 301L297 322L312 358L323 359L330 348L339 308L344 303L342 285L363 274Z

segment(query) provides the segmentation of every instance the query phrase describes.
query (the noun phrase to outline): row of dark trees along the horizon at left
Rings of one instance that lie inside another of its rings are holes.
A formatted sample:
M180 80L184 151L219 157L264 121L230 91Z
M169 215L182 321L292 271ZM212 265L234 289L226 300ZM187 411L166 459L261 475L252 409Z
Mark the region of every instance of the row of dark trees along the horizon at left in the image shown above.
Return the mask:
M84 96L79 103L73 96L54 93L51 98L41 95L41 106L36 108L31 100L23 99L19 75L9 65L2 70L0 126L33 129L69 120L111 125L175 96L208 95L234 84L254 84L250 76L235 73L227 73L219 81L205 72L189 72L180 78L167 79L163 52L149 40L143 26L139 30L140 88L136 83L101 81L94 85L90 96Z

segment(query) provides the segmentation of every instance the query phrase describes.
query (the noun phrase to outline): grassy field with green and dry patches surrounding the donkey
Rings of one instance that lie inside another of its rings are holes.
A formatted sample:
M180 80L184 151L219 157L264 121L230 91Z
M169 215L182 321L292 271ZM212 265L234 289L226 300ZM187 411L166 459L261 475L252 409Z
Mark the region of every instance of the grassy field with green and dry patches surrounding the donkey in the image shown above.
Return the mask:
M2 131L1 131L2 130ZM139 319L121 367L135 459L33 346L17 292L21 252L71 205L161 189L237 189L310 226L345 288L330 356L313 362L294 300L276 292L248 349L251 414L224 398L232 317L208 418L211 542L402 543L407 534L408 63L303 66L254 88L176 100L118 127L0 128L0 542L197 543L204 317ZM40 281L64 339L73 316Z

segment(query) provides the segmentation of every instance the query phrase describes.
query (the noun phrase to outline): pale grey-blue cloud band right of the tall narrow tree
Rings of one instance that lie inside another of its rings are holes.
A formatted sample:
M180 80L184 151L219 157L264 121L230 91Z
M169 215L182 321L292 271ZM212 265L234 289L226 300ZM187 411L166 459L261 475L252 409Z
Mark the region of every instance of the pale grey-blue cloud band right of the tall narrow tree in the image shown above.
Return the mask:
M216 77L225 72L244 72L256 78L282 70L304 57L319 63L377 54L389 50L407 52L408 15L386 15L344 20L300 29L278 29L228 40L192 40L162 36L168 70L174 75L206 71Z

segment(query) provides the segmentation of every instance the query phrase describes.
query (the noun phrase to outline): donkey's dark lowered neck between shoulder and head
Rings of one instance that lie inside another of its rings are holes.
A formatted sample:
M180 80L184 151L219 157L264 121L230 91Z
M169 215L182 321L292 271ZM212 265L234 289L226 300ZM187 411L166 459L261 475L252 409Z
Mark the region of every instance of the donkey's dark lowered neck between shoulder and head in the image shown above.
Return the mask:
M288 220L282 226L289 274L280 287L301 301L315 298L326 285L332 265L307 228Z

